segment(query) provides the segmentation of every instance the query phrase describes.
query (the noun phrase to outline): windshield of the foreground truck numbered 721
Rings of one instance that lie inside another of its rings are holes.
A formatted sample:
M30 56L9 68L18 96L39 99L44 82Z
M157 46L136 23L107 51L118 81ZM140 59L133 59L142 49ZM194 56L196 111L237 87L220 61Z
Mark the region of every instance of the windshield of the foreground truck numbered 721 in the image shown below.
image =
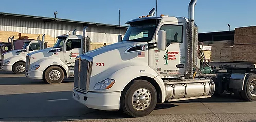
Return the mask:
M157 23L158 24L158 23ZM141 22L133 22L126 31L123 40L125 41L151 41L156 29L155 19Z

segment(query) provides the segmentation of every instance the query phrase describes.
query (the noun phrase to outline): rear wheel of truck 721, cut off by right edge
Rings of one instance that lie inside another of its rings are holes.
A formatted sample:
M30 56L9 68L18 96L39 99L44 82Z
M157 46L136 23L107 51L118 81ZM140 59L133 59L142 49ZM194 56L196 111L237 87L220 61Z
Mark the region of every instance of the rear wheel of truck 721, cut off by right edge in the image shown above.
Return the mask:
M246 101L256 100L256 74L247 74L241 96Z

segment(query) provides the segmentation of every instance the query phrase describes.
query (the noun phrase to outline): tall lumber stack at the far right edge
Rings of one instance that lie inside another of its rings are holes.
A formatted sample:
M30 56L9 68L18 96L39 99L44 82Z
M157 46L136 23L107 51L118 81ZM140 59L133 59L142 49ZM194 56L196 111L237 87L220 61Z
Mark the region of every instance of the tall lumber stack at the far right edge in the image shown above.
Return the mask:
M233 59L256 62L256 26L235 28Z

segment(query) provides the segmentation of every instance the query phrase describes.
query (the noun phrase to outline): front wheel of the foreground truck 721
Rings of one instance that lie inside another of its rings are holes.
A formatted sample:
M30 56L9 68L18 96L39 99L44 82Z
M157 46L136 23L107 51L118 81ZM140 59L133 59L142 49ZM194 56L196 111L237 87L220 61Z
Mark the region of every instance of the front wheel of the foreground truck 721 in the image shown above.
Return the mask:
M156 106L155 87L146 80L134 80L124 89L121 96L122 110L133 117L147 116Z

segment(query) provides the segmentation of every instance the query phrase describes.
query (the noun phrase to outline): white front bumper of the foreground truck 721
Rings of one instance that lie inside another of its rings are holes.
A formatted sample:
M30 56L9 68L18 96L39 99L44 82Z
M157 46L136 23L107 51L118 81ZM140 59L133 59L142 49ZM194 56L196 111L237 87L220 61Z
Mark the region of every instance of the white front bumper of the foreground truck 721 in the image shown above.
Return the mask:
M98 110L115 111L119 110L121 92L111 93L82 93L73 89L73 99L84 104L88 108Z

